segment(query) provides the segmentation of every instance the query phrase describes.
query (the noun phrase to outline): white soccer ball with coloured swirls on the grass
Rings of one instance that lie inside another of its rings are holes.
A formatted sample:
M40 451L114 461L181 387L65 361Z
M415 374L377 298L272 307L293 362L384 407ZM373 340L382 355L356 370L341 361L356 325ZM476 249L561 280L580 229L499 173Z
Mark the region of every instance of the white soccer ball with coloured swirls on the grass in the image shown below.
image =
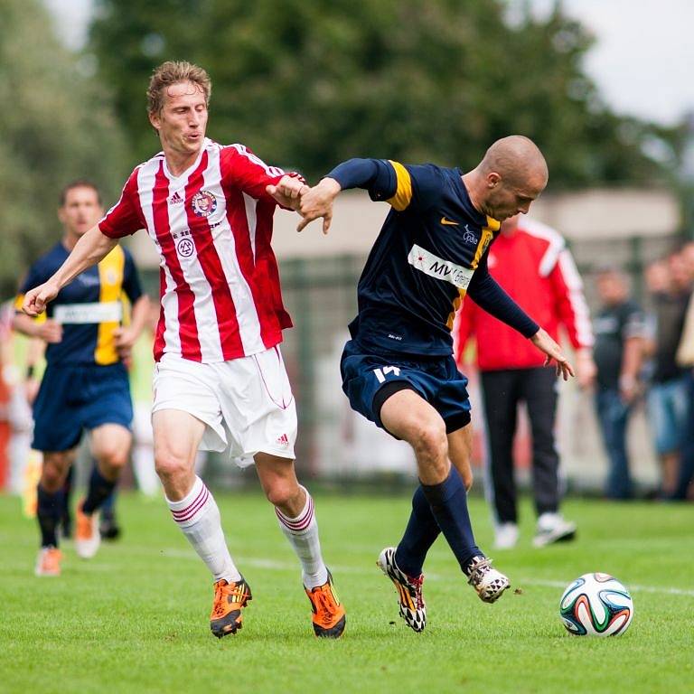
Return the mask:
M633 600L629 591L609 574L584 574L561 596L559 616L568 633L616 636L632 623Z

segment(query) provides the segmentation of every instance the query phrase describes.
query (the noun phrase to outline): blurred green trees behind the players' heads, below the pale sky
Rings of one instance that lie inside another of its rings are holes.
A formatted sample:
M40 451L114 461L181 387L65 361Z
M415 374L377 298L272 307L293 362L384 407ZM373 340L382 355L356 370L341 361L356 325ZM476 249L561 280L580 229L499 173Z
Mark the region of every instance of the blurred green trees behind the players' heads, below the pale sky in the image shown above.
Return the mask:
M41 0L4 0L0 23L0 286L58 234L70 178L107 204L159 149L145 115L152 69L199 62L210 136L310 180L351 156L475 164L494 139L532 137L550 190L673 183L685 130L607 108L583 59L586 29L523 0L94 0L80 54ZM690 190L689 186L688 190Z

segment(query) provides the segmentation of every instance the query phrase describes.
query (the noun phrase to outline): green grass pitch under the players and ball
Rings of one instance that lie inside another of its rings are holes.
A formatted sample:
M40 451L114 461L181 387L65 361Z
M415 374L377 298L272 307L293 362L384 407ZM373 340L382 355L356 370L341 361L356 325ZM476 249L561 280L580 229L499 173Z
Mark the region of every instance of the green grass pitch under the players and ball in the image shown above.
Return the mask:
M89 562L64 549L60 578L33 577L34 521L0 497L0 691L29 692L691 692L694 509L570 501L577 542L496 555L518 594L483 605L439 539L427 560L428 624L408 630L375 567L406 498L319 495L324 554L348 610L342 640L312 635L295 558L256 495L218 494L232 554L253 588L244 629L217 641L211 581L161 502L124 494L125 536ZM477 539L491 544L482 500ZM492 553L493 555L493 553ZM605 571L632 590L633 624L610 639L570 636L563 586Z

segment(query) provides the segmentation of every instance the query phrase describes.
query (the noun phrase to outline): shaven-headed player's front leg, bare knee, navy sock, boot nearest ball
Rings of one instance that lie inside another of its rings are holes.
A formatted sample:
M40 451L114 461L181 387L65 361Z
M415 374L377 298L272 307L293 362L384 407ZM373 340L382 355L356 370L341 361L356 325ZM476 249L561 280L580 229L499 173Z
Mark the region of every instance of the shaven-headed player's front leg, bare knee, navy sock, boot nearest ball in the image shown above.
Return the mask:
M422 491L439 528L478 596L484 602L494 602L510 584L490 567L490 560L474 542L464 483L464 476L472 481L469 432L459 430L446 436L444 420L436 409L411 389L390 396L383 403L380 418L389 432L413 447ZM449 438L453 444L450 449ZM454 465L449 455L455 459Z

